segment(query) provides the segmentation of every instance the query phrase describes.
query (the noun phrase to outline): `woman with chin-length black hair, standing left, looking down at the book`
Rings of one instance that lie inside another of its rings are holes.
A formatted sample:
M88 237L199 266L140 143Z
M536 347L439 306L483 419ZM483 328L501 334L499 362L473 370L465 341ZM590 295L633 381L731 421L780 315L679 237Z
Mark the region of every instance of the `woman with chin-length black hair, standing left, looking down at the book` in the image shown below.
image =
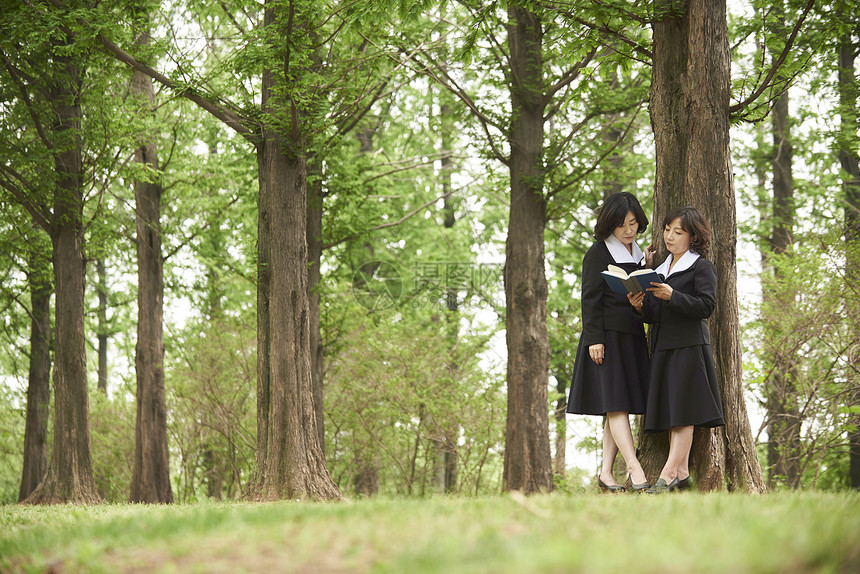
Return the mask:
M567 412L605 415L603 462L597 484L604 492L623 492L612 475L618 452L630 472L632 489L650 485L636 458L630 413L645 412L648 394L648 346L642 323L623 294L614 292L601 272L609 265L630 273L653 265L651 246L643 251L636 235L648 228L648 218L630 193L610 196L594 226L597 240L582 261L582 335L576 351Z

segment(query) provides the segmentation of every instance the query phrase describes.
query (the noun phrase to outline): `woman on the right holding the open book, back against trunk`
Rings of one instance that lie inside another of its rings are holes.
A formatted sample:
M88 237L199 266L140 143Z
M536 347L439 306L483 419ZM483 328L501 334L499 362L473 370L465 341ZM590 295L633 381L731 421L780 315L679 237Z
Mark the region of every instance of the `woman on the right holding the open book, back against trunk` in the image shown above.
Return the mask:
M651 383L645 431L669 431L669 456L660 478L647 492L692 486L690 447L693 427L725 424L708 317L716 306L717 273L708 261L711 231L694 207L681 207L663 220L669 256L648 293L630 294L651 331Z

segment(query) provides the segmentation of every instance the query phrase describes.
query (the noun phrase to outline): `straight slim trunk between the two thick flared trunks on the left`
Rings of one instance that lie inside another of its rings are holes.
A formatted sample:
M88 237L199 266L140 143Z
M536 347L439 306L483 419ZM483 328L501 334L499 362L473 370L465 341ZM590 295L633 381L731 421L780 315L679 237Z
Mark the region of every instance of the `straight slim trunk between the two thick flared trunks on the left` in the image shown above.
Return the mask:
M148 43L148 32L141 33ZM141 72L132 77L132 93L152 108L152 79ZM134 154L135 162L158 172L158 150L152 135ZM134 468L129 502L170 503L170 455L167 448L167 408L164 393L164 281L161 258L161 184L135 181L137 219L137 423Z

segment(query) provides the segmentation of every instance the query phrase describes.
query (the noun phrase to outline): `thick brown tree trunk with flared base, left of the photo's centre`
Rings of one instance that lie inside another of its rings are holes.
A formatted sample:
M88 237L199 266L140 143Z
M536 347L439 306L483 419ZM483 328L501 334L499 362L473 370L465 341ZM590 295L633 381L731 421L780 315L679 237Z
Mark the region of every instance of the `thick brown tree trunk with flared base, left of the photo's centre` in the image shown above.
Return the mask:
M266 2L265 26L286 32L287 14ZM292 28L282 37L306 33L302 13L290 13ZM284 51L285 72L294 64ZM300 75L302 70L291 74ZM289 78L265 68L262 109L274 117L287 113L292 126L282 137L262 128L257 158L257 459L251 497L257 500L341 499L329 475L320 444L311 378L308 303L307 163L304 111L290 96ZM283 117L283 116L281 116Z

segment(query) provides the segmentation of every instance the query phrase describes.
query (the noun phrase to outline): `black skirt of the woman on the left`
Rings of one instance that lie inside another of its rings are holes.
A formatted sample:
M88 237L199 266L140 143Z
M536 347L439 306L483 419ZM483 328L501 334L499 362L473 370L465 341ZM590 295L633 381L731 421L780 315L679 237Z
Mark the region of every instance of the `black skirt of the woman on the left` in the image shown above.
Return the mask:
M605 331L603 364L598 365L583 346L576 350L567 412L605 415L611 412L641 414L648 397L648 346L645 334Z

